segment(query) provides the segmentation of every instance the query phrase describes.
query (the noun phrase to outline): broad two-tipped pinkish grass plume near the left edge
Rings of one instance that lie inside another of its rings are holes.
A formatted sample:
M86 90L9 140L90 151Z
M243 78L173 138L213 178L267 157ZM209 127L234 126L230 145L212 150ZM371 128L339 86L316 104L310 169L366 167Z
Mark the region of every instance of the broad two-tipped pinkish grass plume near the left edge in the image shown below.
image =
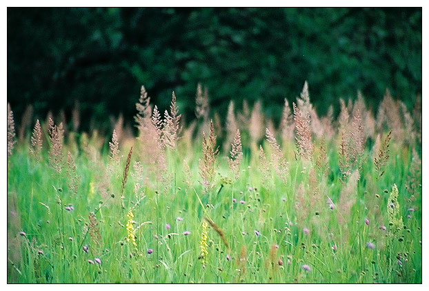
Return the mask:
M49 150L49 164L55 172L61 174L64 162L63 162L63 123L59 126L54 125L54 121L49 119L48 123L49 139L50 139L50 150Z

